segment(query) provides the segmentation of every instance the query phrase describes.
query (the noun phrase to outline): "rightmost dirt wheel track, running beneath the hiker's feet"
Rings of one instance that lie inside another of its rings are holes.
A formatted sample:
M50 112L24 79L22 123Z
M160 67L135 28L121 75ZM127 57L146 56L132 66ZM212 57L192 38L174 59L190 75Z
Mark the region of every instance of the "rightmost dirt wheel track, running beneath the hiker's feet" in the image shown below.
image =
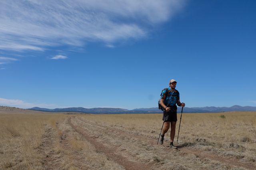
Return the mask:
M143 139L144 141L146 141L147 143L150 143L150 145L155 146L157 143L157 139L156 137L148 137L148 135L145 135L143 133L139 133L139 132L131 132L128 130L124 130L124 129L120 129L120 128L116 128L116 127L111 127L111 126L106 126L106 125L97 125L97 124L92 124L84 119L78 118L80 121L83 121L84 123L86 123L87 125L91 126L91 127L97 127L94 129L112 129L111 133L116 133L118 135L126 135L128 137L134 137L136 139ZM155 140L152 140L152 138L154 138ZM168 147L168 145L163 145L165 147ZM188 146L185 145L185 147L180 147L178 148L178 150L186 152L188 154L194 154L196 157L200 157L202 159L207 158L209 160L215 160L218 162L222 162L225 164L229 164L232 166L238 166L238 167L242 167L242 168L247 168L247 169L251 169L251 170L255 170L256 169L256 165L252 164L252 163L244 163L244 162L239 162L240 160L238 158L223 158L220 157L212 152L207 153L205 150L195 150L193 148L190 148Z

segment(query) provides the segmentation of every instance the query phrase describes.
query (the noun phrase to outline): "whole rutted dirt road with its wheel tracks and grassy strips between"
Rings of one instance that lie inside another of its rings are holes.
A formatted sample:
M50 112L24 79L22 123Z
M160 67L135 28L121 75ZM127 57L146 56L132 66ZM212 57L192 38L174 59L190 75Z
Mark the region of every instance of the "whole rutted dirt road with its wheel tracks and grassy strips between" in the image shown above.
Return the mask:
M38 149L44 169L256 169L253 161L244 161L242 153L192 143L170 149L167 140L156 145L155 134L98 124L79 116L68 117L56 129L47 128Z

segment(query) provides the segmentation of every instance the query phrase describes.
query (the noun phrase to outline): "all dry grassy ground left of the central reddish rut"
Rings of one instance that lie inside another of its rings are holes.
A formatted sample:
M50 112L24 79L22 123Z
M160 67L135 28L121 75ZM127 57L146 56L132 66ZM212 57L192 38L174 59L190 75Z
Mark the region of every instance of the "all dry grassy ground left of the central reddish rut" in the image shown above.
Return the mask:
M0 169L122 169L72 132L64 123L67 117L0 114ZM45 159L52 162L46 164Z

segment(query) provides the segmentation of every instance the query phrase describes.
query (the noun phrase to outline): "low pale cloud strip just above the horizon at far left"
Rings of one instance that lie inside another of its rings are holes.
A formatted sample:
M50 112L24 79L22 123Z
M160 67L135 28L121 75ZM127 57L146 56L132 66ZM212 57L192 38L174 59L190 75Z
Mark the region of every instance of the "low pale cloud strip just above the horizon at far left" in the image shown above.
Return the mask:
M43 107L43 108L54 109L54 108L60 107L54 104L35 104L35 103L24 102L22 100L13 100L13 99L4 99L4 98L0 98L0 105L19 107L23 109L28 109L32 107Z

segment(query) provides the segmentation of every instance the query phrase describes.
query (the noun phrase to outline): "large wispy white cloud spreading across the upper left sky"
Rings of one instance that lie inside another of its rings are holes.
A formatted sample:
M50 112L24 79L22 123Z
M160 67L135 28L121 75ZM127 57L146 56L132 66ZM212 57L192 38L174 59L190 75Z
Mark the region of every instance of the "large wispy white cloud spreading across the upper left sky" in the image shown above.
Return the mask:
M1 0L0 49L44 51L146 37L185 0Z

